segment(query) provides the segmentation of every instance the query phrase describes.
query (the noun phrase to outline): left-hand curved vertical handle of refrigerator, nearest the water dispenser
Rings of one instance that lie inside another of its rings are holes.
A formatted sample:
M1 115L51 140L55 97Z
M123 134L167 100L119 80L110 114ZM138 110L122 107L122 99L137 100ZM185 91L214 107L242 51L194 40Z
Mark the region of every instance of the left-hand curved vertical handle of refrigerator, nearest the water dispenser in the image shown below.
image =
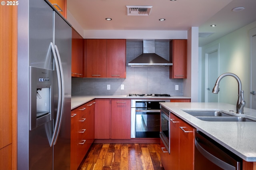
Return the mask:
M59 117L60 117L60 110L61 110L61 98L62 98L62 92L61 92L61 77L60 77L60 67L58 65L58 59L56 56L56 52L54 50L54 45L51 42L50 43L51 49L52 49L52 54L53 54L53 58L54 58L54 63L55 63L55 69L57 72L57 83L58 83L58 105L57 105L57 113L56 113L56 120L55 120L55 124L54 124L54 129L53 129L53 134L52 134L52 138L50 140L50 146L52 147L56 135L57 135L57 128L58 128L58 122L59 122Z

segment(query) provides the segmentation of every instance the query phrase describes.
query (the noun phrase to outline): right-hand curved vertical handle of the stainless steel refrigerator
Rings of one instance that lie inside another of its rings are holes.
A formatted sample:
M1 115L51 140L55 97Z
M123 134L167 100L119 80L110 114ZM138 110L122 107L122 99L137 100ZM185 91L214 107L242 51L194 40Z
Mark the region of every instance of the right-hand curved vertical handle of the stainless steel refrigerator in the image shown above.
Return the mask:
M59 133L60 133L60 126L62 123L62 115L63 115L63 109L64 109L64 73L63 73L62 64L61 64L61 60L60 60L60 53L59 53L57 45L55 45L55 51L56 51L57 60L58 60L58 67L60 69L61 103L60 103L60 115L59 115L58 122L56 123L57 128L56 128L56 135L54 138L54 145L56 144Z

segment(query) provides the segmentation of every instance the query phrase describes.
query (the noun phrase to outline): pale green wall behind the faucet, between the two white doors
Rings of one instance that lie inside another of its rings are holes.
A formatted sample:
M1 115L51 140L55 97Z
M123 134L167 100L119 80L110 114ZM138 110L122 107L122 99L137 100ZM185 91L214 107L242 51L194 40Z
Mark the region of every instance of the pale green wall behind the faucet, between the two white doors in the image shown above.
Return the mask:
M250 55L250 36L249 30L256 27L256 22L252 22L214 42L211 42L202 47L202 95L201 99L204 102L205 89L205 49L212 47L215 44L220 45L219 48L219 73L231 72L236 74L242 81L242 89L244 90L244 100L246 107L250 103L250 70L251 70L251 55ZM235 105L238 99L238 83L233 77L224 77L220 82L219 102L230 103Z

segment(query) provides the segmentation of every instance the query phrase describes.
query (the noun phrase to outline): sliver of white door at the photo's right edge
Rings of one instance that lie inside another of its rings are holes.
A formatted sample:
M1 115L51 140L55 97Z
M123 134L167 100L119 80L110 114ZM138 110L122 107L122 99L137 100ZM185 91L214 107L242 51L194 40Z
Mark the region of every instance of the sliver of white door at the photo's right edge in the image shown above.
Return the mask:
M256 109L256 36L252 37L252 85L251 85L251 108Z

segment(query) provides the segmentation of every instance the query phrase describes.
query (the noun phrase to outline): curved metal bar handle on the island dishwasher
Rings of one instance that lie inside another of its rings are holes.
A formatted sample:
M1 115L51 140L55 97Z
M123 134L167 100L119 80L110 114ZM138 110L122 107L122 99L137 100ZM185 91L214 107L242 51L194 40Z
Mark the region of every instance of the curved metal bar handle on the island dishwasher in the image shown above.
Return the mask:
M197 140L195 140L195 145L196 148L198 149L198 151L208 160L210 160L212 163L216 164L217 166L219 166L220 168L224 169L224 170L236 170L236 167L224 162L223 160L220 160L219 158L217 158L216 156L210 154L207 150L205 150L199 143Z

